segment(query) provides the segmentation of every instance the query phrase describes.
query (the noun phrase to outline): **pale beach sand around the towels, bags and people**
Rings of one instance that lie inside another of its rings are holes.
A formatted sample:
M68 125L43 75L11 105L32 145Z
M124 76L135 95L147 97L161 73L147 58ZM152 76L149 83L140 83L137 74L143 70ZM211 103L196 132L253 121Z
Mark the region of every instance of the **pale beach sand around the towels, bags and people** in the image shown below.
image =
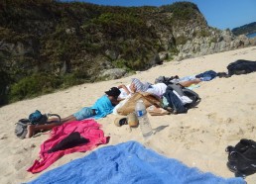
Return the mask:
M38 159L40 145L49 135L19 139L14 135L14 129L19 119L27 118L35 110L66 117L84 106L91 106L111 86L128 84L132 77L154 83L161 75L183 77L206 70L226 72L228 63L237 59L256 60L256 46L165 62L126 78L82 84L0 108L0 183L31 181L48 170L91 152L64 155L41 173L27 172L34 160ZM241 138L256 140L256 72L215 78L199 83L199 87L193 90L199 94L201 102L187 114L159 117L149 115L156 134L148 141L144 141L139 128L116 127L113 123L115 115L97 120L105 136L110 137L107 144L97 148L137 140L160 154L177 158L203 172L212 172L225 178L233 177L234 174L226 167L226 146L235 145ZM246 181L248 184L255 183L256 174L248 176Z

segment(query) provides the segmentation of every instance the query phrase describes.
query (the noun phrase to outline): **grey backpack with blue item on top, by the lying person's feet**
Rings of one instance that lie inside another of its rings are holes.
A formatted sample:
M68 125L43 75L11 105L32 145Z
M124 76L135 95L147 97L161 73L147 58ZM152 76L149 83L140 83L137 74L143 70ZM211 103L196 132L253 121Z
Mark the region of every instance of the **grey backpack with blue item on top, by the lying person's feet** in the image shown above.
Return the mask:
M59 118L59 122L61 122L61 117L57 114L45 114L42 115L40 111L36 110L35 113L30 114L29 119L21 119L16 123L14 134L18 138L25 138L28 130L28 125L44 125L48 124L48 118L50 116L56 116Z

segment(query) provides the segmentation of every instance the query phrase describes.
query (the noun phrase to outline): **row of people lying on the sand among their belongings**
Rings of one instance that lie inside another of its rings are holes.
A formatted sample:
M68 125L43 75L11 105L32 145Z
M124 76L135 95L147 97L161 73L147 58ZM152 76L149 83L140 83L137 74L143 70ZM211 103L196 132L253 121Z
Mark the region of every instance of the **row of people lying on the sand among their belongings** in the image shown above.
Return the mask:
M184 87L188 87L192 84L197 84L200 81L201 80L199 78L179 81L177 80L177 77L175 77L173 82L177 82ZM105 94L97 99L92 107L84 107L78 112L61 119L61 121L58 119L49 119L45 125L29 125L27 128L28 133L26 138L32 138L38 132L49 131L68 122L81 121L88 118L103 118L108 114L111 114L114 107L119 104L120 101L129 98L136 92L148 92L162 98L166 89L167 85L165 83L143 83L137 78L132 78L129 85L122 84L118 87L111 87L108 91L105 91Z

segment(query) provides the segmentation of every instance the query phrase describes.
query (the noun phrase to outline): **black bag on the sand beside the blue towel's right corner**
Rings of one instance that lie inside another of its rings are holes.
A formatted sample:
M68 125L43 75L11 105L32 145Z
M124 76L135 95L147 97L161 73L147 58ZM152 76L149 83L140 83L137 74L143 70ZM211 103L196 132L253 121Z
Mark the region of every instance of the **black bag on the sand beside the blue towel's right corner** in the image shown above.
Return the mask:
M242 138L235 146L227 146L227 167L236 177L245 178L256 172L256 142Z

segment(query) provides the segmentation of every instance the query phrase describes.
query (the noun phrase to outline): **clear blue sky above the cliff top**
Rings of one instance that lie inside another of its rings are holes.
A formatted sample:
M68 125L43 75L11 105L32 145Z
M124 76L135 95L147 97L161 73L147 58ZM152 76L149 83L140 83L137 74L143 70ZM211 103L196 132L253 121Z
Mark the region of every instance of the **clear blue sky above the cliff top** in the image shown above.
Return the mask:
M63 0L72 1L72 0ZM75 0L108 6L162 6L179 0ZM185 0L183 0L185 1ZM256 0L186 0L197 5L208 26L220 30L256 22Z

